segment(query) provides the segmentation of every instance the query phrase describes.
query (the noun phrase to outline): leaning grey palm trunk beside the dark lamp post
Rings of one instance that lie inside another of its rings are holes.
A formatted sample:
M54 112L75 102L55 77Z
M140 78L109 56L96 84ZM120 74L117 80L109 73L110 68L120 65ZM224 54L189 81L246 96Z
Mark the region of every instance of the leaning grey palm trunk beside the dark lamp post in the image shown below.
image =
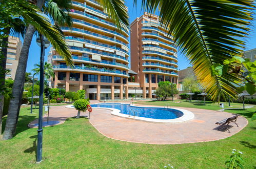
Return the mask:
M36 6L41 10L43 4L44 4L44 0L37 0ZM29 53L29 48L31 45L34 32L35 32L35 28L32 25L29 25L25 33L21 54L18 59L18 66L16 70L14 83L13 83L13 88L12 88L13 98L10 100L5 132L3 136L4 140L13 138L16 132L19 109L21 108L23 86L25 82L24 77L26 74L28 53Z

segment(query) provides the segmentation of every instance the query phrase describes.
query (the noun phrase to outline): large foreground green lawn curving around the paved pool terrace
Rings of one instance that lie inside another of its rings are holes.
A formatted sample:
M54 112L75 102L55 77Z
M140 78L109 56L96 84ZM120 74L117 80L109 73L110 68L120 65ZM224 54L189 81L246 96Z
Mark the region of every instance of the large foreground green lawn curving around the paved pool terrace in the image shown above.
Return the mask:
M27 124L37 116L22 108L17 135L0 141L0 168L163 168L167 164L174 168L224 168L232 149L243 152L245 168L254 168L256 121L250 117L255 111L256 108L228 111L240 113L249 121L244 130L232 137L177 145L109 139L97 132L88 119L70 118L64 124L44 128L44 161L35 164L37 132L27 128Z

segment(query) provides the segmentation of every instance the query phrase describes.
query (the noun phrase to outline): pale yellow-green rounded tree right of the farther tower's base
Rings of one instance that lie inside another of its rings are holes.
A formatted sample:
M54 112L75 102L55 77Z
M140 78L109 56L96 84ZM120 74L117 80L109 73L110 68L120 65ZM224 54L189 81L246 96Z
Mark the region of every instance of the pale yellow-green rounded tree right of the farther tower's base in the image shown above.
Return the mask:
M193 91L199 91L199 83L198 81L193 77L186 77L183 80L182 88L184 92L192 92Z

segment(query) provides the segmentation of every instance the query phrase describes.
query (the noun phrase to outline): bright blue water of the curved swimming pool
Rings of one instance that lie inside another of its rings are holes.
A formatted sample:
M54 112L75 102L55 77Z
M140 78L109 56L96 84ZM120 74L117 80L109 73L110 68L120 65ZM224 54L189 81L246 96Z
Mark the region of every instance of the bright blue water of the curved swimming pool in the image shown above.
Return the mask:
M113 108L121 110L120 113L128 114L133 116L134 110L139 113L140 117L153 118L153 119L174 119L183 116L183 113L175 109L164 109L164 108L151 108L151 107L133 107L129 104L121 103L100 103L91 104L91 107L100 108ZM137 113L135 116L138 116Z

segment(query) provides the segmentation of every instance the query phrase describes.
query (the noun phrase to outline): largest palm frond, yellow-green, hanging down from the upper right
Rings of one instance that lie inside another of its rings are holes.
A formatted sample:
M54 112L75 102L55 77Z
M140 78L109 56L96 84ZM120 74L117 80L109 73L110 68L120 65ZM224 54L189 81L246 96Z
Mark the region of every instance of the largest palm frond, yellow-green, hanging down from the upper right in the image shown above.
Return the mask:
M211 67L232 55L242 56L255 9L253 0L142 0L142 4L149 12L159 9L162 24L190 60L212 100L237 97L235 88L241 79L231 74L212 75Z

